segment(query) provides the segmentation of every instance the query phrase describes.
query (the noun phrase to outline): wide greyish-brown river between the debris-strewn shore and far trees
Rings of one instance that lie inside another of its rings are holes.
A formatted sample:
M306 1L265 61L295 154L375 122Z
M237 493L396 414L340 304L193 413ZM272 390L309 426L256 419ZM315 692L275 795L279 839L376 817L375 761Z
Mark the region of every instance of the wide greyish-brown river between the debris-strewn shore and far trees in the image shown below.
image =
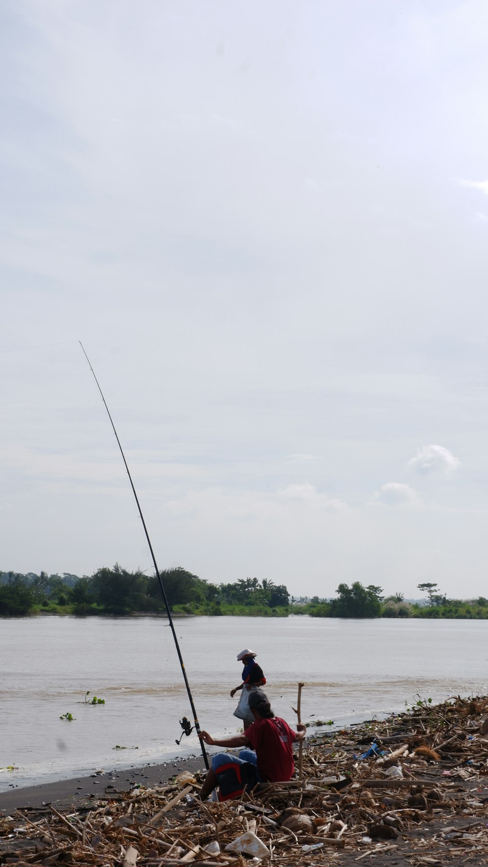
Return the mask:
M419 694L488 692L488 621L187 617L175 621L200 726L237 731L236 661L257 651L276 713L335 726L404 709ZM84 694L105 705L85 705ZM71 713L72 722L60 720ZM171 630L158 617L0 619L0 792L199 753ZM115 746L127 749L114 749ZM137 747L137 749L136 749Z

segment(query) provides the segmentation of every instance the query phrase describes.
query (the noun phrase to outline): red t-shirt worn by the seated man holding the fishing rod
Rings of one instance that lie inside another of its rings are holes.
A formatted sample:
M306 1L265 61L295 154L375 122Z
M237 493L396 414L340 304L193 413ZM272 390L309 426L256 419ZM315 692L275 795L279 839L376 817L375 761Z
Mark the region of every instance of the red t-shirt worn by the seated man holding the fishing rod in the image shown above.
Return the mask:
M275 716L272 720L257 720L244 732L251 746L256 750L257 770L270 783L285 781L293 777L292 743L296 733L287 722Z

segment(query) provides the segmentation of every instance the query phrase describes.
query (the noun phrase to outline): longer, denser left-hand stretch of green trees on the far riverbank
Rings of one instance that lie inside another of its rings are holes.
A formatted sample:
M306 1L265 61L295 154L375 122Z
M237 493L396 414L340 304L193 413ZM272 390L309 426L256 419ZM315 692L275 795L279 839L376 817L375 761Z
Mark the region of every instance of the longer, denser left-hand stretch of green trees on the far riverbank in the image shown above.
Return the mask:
M241 578L213 584L179 566L160 572L170 608L181 614L288 613L290 594L284 584L264 578ZM0 572L0 616L23 616L36 611L75 615L162 613L166 611L156 575L130 571L119 564L103 566L92 576L64 572L36 575Z

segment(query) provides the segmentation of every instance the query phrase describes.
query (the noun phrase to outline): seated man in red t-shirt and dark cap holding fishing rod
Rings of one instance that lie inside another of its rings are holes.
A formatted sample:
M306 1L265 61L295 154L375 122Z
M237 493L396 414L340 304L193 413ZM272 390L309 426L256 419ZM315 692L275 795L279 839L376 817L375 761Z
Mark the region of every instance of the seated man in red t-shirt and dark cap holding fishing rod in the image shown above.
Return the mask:
M252 788L257 783L283 782L292 778L295 771L292 745L296 740L303 740L305 727L298 725L295 732L287 722L275 716L268 696L261 689L251 692L249 707L255 722L246 728L244 734L214 740L208 732L200 733L200 738L209 746L252 747L241 750L238 758L229 753L212 756L211 770L200 791L201 799L208 798L217 786L220 786L221 799L237 798L246 784Z

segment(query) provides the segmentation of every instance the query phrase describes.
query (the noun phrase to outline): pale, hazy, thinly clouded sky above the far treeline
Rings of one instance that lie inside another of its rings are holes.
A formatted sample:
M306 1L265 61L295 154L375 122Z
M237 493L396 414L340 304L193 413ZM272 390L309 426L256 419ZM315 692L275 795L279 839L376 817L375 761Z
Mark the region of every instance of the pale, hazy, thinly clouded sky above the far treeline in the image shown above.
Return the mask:
M485 594L485 0L3 0L0 570Z

